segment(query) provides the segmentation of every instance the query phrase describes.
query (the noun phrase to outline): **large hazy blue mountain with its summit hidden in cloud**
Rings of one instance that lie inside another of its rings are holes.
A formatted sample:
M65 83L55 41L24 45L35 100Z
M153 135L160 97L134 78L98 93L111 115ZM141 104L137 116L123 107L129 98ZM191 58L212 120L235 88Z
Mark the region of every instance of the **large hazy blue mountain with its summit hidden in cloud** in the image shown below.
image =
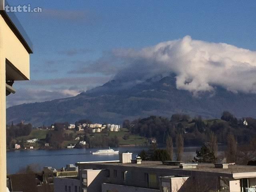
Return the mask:
M7 109L7 122L25 120L34 126L80 119L122 123L124 119L174 113L216 118L224 110L237 117L256 117L255 107L256 94L233 93L216 86L214 93L193 96L176 88L174 76L156 76L136 84L112 80L74 97L12 106Z

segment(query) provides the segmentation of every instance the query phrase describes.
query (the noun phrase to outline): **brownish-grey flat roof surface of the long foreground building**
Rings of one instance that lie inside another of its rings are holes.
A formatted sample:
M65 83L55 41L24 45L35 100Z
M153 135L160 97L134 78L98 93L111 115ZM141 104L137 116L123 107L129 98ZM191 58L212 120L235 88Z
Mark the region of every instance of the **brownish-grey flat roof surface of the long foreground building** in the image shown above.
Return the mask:
M85 162L78 162L77 165L83 165ZM148 168L148 169L165 169L165 170L183 170L183 171L196 171L196 172L212 172L212 173L223 173L223 174L234 174L234 173L248 173L255 172L256 166L249 165L228 165L227 169L214 168L214 164L209 163L198 163L196 168L191 169L182 169L179 166L170 166L163 165L160 161L142 161L141 164L132 164L132 163L118 163L118 162L93 162L86 163L88 165L94 166L119 166L120 168L124 167L136 167L136 168Z

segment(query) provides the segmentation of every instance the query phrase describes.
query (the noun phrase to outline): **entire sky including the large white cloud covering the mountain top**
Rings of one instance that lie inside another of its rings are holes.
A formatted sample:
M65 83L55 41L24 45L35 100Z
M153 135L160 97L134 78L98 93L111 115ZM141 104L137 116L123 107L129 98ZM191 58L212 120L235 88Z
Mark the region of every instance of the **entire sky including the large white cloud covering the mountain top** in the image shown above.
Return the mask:
M166 71L177 74L177 88L195 95L212 91L213 84L256 92L256 1L8 2L42 12L16 13L34 54L30 81L14 83L17 92L7 97L7 107L76 96L113 78L140 82Z

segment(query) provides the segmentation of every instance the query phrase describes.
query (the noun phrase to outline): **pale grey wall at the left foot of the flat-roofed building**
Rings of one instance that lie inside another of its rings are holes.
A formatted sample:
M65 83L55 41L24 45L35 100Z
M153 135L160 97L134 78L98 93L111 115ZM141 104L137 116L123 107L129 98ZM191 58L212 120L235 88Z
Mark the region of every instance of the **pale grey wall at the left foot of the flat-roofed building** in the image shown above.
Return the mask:
M60 178L54 177L54 192L65 192L65 186L71 188L71 192L75 191L75 186L77 187L77 192L80 192L80 180L72 178Z

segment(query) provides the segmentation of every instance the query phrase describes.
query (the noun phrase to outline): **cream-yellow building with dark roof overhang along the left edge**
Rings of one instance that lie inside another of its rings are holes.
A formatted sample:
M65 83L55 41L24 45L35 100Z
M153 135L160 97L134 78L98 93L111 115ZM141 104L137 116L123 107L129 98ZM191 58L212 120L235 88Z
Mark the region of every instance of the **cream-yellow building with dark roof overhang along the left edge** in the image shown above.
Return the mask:
M0 191L6 191L6 96L15 81L29 80L32 44L7 2L0 0Z

